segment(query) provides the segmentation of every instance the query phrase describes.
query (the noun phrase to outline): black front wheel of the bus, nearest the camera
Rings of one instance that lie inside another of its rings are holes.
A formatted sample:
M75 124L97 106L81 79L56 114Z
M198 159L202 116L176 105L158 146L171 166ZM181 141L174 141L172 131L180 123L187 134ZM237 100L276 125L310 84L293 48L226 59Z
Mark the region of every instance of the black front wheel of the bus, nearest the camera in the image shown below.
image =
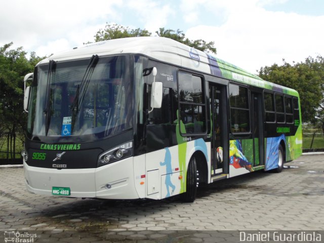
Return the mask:
M181 200L186 203L192 203L197 193L197 165L196 158L192 156L189 161L186 181L186 192L181 194Z

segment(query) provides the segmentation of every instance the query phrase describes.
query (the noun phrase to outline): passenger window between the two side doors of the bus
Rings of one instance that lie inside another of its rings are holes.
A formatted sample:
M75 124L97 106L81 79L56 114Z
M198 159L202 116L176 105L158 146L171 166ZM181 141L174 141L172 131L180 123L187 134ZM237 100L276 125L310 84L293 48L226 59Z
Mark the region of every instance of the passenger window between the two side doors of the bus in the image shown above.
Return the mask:
M229 84L230 125L232 133L250 132L249 96L246 87Z

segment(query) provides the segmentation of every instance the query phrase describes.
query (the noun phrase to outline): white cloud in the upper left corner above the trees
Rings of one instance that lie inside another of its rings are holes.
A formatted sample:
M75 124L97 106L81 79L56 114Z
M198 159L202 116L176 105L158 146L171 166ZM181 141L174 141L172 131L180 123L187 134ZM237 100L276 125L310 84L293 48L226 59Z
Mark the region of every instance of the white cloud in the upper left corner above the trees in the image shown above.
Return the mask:
M117 0L5 1L0 10L0 45L14 42L15 47L23 46L43 56L48 54L46 47L63 44L62 39L69 39L69 44L64 43L60 50L93 41L93 35L99 29L97 27L104 27L97 23L105 23L108 18L118 19L113 8L121 4ZM90 30L93 32L90 33ZM54 46L59 49L59 46Z

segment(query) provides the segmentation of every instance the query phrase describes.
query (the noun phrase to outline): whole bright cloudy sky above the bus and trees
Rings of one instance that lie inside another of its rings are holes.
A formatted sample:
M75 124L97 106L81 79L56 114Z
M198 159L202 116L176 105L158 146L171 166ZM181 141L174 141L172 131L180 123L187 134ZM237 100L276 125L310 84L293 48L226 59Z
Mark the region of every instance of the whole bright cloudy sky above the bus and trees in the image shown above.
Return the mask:
M252 73L282 59L324 56L322 0L2 1L0 46L48 56L94 41L106 23L182 30L213 41L216 57Z

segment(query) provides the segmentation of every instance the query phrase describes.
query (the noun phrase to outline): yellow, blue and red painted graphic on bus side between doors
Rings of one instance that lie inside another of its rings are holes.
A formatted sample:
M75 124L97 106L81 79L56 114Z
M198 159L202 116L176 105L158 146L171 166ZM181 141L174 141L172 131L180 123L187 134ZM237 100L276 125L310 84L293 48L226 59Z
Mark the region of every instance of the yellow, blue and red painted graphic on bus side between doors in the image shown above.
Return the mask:
M252 164L242 153L242 145L239 140L229 141L229 158L229 165L233 166L235 169L245 168L250 172L254 171Z

